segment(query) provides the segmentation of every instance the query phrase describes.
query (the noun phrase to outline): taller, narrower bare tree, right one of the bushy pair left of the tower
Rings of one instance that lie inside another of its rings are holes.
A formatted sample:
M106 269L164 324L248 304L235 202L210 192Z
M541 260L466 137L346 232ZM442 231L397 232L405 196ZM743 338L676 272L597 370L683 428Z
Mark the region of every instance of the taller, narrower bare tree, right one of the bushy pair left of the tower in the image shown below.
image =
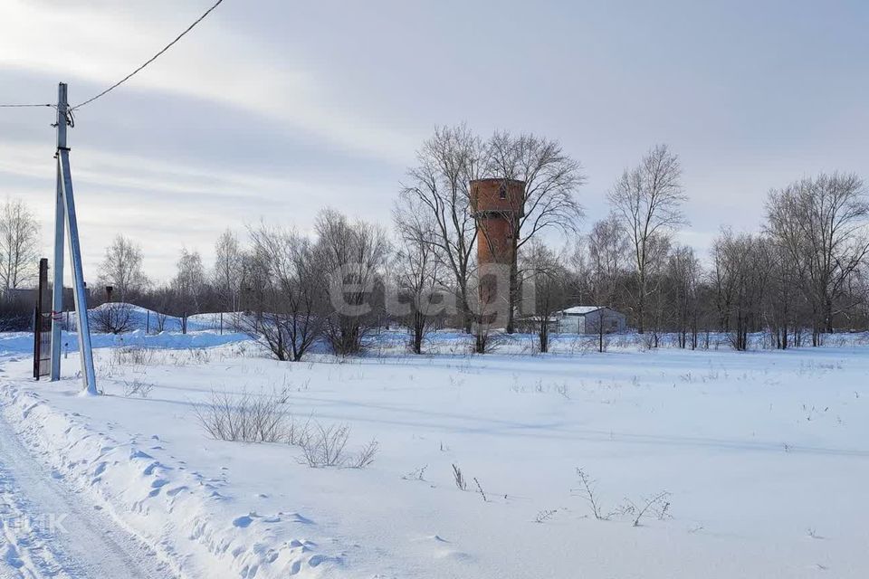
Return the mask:
M320 212L316 228L317 252L329 276L325 335L336 354L357 354L366 334L377 327L379 312L371 298L387 258L387 235L377 225L350 222L333 209Z

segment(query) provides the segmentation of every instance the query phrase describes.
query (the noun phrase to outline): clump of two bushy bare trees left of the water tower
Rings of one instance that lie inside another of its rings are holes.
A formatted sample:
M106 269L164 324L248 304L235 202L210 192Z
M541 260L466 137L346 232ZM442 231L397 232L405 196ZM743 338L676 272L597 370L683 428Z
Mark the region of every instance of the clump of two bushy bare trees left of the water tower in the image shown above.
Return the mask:
M378 327L376 291L389 252L377 225L320 212L316 239L260 224L250 228L242 271L247 331L281 360L298 361L325 339L332 351L358 354Z

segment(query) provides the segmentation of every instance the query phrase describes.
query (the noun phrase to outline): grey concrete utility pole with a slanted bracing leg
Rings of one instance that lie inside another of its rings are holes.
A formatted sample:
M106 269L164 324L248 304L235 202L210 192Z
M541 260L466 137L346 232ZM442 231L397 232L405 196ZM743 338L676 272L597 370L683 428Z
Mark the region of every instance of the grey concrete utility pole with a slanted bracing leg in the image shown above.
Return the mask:
M81 269L79 224L75 217L75 200L72 195L70 149L66 146L66 125L69 104L66 84L61 82L57 90L57 198L54 208L54 288L52 297L52 380L61 375L61 326L60 312L63 309L63 237L64 228L69 231L70 261L72 262L72 295L78 317L79 356L81 379L87 394L99 394L97 377L93 369L91 351L91 326L88 323L88 299L84 289L84 273Z

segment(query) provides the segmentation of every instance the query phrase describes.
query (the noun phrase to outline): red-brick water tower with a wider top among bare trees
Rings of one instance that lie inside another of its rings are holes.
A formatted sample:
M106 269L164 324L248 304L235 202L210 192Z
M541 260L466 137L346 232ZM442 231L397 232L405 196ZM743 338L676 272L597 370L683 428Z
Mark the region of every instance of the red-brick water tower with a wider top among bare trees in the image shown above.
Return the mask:
M525 182L516 179L474 179L471 207L477 223L477 262L501 264L516 271L516 240L520 218L525 214ZM491 304L506 302L509 288L496 288L493 280L480 281L480 299ZM499 296L499 294L501 294Z

